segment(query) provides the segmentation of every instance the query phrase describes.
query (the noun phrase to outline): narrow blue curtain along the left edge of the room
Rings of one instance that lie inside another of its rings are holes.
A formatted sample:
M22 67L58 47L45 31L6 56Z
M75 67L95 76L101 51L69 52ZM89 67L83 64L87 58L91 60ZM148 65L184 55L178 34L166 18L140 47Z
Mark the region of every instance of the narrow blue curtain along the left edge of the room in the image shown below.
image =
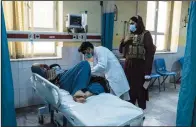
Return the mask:
M14 107L14 90L10 57L8 51L7 33L5 19L1 2L1 65L2 65L2 84L1 84L1 126L16 126L16 113Z

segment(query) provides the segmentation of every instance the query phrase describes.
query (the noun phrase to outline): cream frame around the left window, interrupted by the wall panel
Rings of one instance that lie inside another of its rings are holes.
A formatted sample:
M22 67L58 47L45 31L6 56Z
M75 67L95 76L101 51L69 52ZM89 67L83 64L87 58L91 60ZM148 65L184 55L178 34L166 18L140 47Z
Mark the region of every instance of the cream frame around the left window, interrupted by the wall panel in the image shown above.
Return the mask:
M53 24L53 28L41 28L41 27L32 27L33 26L33 2L34 1L27 1L27 22L28 22L28 29L30 31L49 31L49 32L56 32L57 31L57 2L53 1L54 6L53 6L53 15L54 15L54 24ZM40 1L41 2L41 1ZM50 42L50 41L48 41ZM39 43L35 42L35 43ZM47 41L46 41L47 43ZM36 53L34 52L34 44L31 43L32 49L31 49L31 54L33 57L56 57L57 56L57 42L54 41L54 47L55 47L55 51L52 53Z

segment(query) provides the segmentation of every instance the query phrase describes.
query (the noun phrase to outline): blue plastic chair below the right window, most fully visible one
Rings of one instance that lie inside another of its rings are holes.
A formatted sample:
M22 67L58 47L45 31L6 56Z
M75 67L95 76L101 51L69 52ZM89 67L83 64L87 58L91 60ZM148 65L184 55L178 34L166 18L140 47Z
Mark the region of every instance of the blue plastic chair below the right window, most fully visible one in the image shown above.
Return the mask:
M161 85L164 84L164 91L165 91L165 80L169 76L173 76L173 78L174 78L174 87L176 89L176 83L175 83L175 81L176 81L176 72L170 72L170 71L166 70L165 60L163 58L155 60L155 69L156 69L156 72L158 74L163 76L163 81L162 81Z

